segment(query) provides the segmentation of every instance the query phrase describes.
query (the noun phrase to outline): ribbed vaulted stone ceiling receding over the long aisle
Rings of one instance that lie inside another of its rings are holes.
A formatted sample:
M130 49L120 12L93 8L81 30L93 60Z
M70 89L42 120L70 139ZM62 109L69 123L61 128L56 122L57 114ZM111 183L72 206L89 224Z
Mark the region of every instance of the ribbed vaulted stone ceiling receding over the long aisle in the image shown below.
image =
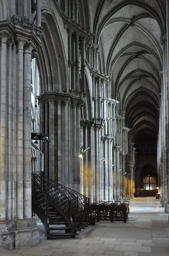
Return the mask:
M163 17L163 3L157 0L100 1L95 15L95 42L103 45L100 55L112 77L112 97L125 112L138 155L156 157Z

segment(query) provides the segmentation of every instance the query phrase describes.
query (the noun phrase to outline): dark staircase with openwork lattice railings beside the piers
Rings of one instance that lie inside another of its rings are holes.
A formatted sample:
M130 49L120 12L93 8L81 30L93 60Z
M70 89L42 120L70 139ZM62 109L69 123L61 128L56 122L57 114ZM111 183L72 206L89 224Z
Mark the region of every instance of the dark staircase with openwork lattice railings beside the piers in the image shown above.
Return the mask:
M47 239L74 238L88 225L88 205L89 198L44 173L32 174L32 210L41 219Z

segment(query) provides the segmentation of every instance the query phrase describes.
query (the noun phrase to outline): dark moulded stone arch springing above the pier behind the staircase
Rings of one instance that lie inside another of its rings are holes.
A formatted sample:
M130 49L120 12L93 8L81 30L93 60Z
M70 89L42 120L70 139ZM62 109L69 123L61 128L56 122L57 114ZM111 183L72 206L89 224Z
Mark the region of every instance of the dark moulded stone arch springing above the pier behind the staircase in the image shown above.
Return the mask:
M42 12L43 39L38 51L41 77L41 93L45 91L68 91L65 49L56 16ZM55 44L54 44L55 42Z

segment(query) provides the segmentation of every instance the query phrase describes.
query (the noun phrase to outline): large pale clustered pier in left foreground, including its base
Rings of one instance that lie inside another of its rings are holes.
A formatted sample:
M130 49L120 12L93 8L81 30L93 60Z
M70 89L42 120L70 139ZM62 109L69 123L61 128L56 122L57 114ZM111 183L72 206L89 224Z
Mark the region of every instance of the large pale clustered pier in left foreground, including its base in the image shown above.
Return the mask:
M29 138L31 130L30 62L35 46L32 42L19 36L14 40L11 34L5 30L1 32L0 37L0 240L7 235L6 247L13 248L14 243L16 247L24 243L27 234L33 229L34 241L28 239L28 244L33 245L39 241L31 211ZM11 227L6 231L4 230L8 226L8 222L5 227L3 223L3 230L1 229L1 221L4 220L12 220ZM22 228L27 228L25 232L27 234L22 238L19 238L21 229L20 231L16 230L20 223L22 223Z

